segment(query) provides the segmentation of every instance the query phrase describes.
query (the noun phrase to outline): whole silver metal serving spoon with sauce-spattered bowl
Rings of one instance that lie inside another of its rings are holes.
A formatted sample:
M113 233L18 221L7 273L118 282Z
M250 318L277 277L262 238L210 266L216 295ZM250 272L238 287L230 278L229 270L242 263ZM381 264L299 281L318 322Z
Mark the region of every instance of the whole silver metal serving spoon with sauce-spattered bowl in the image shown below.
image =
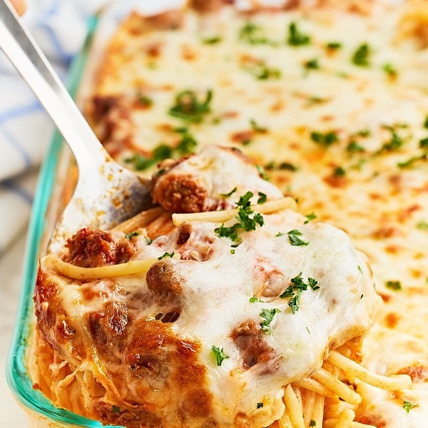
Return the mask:
M46 108L78 165L76 190L55 225L49 252L83 226L109 229L147 208L147 185L101 146L9 0L0 0L0 49Z

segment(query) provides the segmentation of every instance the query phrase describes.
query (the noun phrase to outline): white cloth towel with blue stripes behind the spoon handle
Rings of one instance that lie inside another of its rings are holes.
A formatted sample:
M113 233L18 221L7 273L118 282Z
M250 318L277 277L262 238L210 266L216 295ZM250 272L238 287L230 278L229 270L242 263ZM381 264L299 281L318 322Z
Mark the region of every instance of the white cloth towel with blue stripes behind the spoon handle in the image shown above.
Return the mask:
M58 75L81 49L87 19L106 0L28 0L24 21ZM0 254L26 227L53 125L0 51Z

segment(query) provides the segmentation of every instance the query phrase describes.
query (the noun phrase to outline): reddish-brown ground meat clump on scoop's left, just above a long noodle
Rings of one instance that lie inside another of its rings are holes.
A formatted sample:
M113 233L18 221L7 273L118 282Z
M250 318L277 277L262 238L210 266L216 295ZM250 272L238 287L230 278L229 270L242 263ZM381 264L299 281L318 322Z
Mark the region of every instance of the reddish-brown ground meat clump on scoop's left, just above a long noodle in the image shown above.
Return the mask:
M68 253L63 261L80 267L97 267L126 263L136 253L124 235L83 228L68 239Z

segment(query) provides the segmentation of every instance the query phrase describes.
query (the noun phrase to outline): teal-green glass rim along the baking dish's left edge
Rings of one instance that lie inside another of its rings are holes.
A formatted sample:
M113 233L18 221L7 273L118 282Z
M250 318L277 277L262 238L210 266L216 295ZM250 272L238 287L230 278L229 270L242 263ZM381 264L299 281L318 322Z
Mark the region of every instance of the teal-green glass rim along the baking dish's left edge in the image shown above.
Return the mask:
M76 96L81 83L83 71L88 62L89 51L93 36L99 24L99 16L92 16L88 21L88 35L83 49L71 64L68 73L68 92ZM65 409L54 407L44 394L33 388L33 382L26 369L26 346L33 317L33 292L36 281L36 272L39 259L41 239L46 228L46 211L54 189L58 162L63 147L62 136L55 131L49 151L41 165L39 180L36 186L34 204L31 210L29 229L26 236L26 250L24 253L23 277L21 280L21 294L16 315L16 323L12 336L9 355L6 362L6 379L11 392L18 402L29 410L51 419L53 422L66 423L82 428L121 428L113 425L104 425Z

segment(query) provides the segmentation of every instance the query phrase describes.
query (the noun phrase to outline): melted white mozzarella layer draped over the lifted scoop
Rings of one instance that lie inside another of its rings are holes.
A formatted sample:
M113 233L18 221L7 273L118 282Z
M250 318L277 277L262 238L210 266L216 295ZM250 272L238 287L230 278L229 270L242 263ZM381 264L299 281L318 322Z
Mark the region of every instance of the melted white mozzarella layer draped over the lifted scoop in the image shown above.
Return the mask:
M320 368L330 347L364 335L379 305L366 260L342 230L327 223L305 224L305 217L292 210L264 215L264 219L263 227L240 232L242 242L233 254L230 240L214 233L217 225L192 223L190 234L210 242L208 260L163 259L170 269L166 280L172 284L174 278L181 278L180 316L171 329L175 337L200 343L198 360L207 368L205 382L213 394L213 414L220 427L232 427L238 414L245 415L253 427L278 419L284 411L283 386ZM225 226L233 223L235 219ZM308 244L291 245L290 230L300 230ZM173 232L151 245L139 241L132 260L174 250L180 253L175 247L177 236ZM300 275L305 282L314 278L320 288L302 291L300 307L292 313L290 299L280 294ZM94 293L90 298L88 289ZM149 294L146 275L131 275L116 277L114 287L106 287L104 281L65 286L60 296L73 322L81 325L100 299L104 303L120 300L129 307L141 302L138 316L154 320L164 308L161 302L138 300ZM255 296L258 301L251 302ZM279 311L270 323L272 334L260 330L263 310ZM237 330L248 323L253 323L259 345L270 351L260 361L256 353L255 362L245 367L246 350L238 346ZM228 355L220 367L213 345ZM173 355L168 358L173 360ZM127 381L130 390L133 382ZM258 409L259 402L263 408ZM167 404L165 409L168 420Z

